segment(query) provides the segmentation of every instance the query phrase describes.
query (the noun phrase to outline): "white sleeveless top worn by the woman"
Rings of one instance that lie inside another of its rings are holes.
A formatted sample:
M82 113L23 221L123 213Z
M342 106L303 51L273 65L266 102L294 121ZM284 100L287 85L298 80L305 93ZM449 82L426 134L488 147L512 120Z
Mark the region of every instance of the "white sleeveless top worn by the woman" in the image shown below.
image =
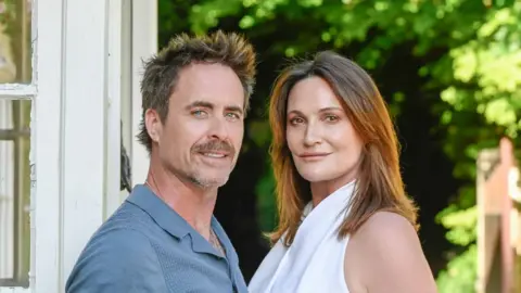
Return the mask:
M344 277L348 237L339 240L354 181L340 188L315 208L309 203L290 247L279 240L250 282L250 293L350 293Z

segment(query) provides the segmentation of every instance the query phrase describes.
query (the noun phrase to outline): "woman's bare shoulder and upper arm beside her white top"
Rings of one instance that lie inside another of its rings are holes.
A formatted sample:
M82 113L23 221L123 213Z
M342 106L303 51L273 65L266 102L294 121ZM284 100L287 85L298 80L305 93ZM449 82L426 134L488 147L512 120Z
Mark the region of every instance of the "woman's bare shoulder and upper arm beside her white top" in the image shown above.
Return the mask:
M359 270L356 278L365 286L385 284L395 289L393 292L418 292L414 290L420 288L435 292L417 231L404 216L376 213L352 235L347 247L345 266ZM379 282L374 276L381 276Z

